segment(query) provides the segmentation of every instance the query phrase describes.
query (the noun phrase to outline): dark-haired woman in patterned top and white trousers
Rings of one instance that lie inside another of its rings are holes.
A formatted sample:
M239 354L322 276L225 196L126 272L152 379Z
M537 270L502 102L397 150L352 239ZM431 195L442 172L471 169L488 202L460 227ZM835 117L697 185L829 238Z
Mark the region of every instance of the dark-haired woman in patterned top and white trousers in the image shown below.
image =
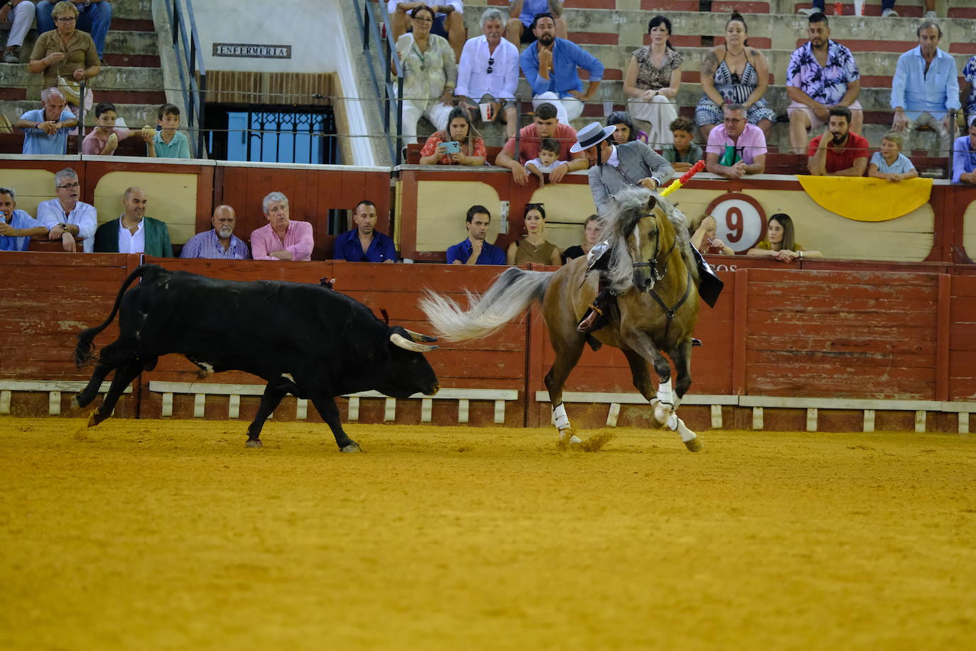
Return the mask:
M651 44L634 50L624 76L624 92L630 96L627 108L646 127L648 144L660 149L671 144L668 125L677 117L678 88L684 56L671 47L671 20L655 16L647 25Z

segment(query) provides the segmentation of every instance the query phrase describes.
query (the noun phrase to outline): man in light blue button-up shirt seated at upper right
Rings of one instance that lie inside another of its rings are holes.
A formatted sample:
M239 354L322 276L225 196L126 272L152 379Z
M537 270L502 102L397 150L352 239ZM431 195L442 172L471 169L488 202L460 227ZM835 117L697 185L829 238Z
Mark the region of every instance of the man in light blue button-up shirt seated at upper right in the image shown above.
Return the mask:
M895 110L893 127L904 132L906 148L915 129L927 125L939 134L940 148L949 153L953 135L953 115L959 108L959 81L956 60L939 49L942 29L925 20L916 30L918 47L898 58L891 80L891 107Z

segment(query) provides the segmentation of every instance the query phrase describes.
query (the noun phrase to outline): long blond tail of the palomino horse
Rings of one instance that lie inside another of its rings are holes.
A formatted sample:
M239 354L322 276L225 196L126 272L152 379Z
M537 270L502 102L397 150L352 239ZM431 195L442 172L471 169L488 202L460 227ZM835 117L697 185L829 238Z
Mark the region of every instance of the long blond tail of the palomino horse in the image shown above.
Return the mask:
M453 342L487 337L521 314L533 300L542 301L552 271L506 269L487 292L468 295L468 310L427 290L420 307L443 339Z

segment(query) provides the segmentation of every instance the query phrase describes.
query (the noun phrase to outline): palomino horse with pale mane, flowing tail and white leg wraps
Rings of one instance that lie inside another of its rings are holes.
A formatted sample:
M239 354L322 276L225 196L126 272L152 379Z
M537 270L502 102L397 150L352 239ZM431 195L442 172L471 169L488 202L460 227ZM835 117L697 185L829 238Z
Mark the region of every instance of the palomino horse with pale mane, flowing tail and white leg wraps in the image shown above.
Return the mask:
M666 199L644 188L626 188L615 200L617 209L602 222L609 245L607 277L617 300L606 311L607 325L590 336L623 350L633 386L654 406L655 427L678 431L685 446L698 452L701 443L695 432L674 413L691 386L691 335L698 320L698 270L687 224ZM468 294L468 310L431 292L421 300L421 309L441 337L462 341L491 335L533 300L541 301L555 350L546 375L553 420L560 441L579 443L562 404L562 389L587 344L587 335L576 326L596 295L597 273L588 272L585 258L557 271L509 268L483 295ZM677 373L673 390L671 365L662 351ZM648 363L658 375L657 392Z

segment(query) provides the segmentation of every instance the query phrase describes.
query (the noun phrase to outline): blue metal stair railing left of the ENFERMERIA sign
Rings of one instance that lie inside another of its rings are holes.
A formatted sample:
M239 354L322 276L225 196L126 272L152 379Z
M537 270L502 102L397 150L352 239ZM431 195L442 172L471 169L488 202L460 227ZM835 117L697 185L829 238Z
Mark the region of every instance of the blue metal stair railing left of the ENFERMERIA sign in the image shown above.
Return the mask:
M207 90L207 70L193 18L193 3L191 0L166 0L166 16L173 31L173 55L177 60L186 105L186 127L190 134L195 134L195 138L190 138L191 153L196 158L203 158L206 151L203 102Z

